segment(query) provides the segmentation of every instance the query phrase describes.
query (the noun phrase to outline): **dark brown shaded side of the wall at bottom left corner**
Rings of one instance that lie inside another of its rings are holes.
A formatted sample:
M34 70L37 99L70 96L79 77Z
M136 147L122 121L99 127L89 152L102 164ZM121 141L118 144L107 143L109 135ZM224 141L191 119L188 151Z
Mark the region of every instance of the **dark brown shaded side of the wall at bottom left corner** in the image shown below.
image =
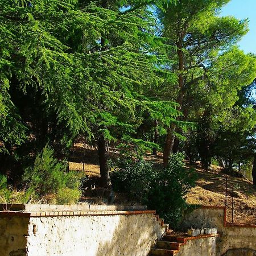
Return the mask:
M29 217L0 218L0 255L26 256Z

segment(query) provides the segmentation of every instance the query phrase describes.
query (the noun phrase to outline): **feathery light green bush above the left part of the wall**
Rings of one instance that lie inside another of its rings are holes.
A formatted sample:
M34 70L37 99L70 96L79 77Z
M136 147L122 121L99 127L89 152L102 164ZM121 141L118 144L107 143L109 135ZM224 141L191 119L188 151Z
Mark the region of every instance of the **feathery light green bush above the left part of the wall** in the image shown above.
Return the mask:
M81 195L81 178L66 169L66 164L54 158L53 149L47 144L36 156L34 167L25 171L23 180L35 197L53 194L56 203L76 203Z

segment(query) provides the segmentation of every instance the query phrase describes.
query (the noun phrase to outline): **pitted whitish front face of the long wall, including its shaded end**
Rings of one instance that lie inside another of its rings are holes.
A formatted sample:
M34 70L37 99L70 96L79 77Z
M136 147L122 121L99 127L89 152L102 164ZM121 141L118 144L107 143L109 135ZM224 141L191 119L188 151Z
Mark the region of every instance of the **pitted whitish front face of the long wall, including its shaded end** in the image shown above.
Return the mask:
M28 233L28 256L144 256L162 235L152 214L32 217Z

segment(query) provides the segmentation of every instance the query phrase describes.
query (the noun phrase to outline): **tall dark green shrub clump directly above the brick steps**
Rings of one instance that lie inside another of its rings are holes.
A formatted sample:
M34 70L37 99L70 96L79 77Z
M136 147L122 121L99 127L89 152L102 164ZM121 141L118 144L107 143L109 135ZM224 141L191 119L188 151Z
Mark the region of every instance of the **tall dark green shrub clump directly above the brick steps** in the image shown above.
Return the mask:
M181 153L171 155L169 166L156 177L147 203L151 209L158 209L159 215L175 229L187 208L184 196L196 181L195 172L184 167L183 159Z

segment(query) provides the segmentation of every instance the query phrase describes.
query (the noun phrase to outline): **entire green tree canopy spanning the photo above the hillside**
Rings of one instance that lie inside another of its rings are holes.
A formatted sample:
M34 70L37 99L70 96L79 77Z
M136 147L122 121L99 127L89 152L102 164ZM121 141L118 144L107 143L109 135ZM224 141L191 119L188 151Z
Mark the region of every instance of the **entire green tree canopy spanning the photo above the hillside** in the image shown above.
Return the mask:
M228 2L0 0L1 172L18 179L46 143L65 159L77 138L104 187L113 144L164 166L176 151L205 168L253 158L256 59L237 47L247 20L219 15Z

